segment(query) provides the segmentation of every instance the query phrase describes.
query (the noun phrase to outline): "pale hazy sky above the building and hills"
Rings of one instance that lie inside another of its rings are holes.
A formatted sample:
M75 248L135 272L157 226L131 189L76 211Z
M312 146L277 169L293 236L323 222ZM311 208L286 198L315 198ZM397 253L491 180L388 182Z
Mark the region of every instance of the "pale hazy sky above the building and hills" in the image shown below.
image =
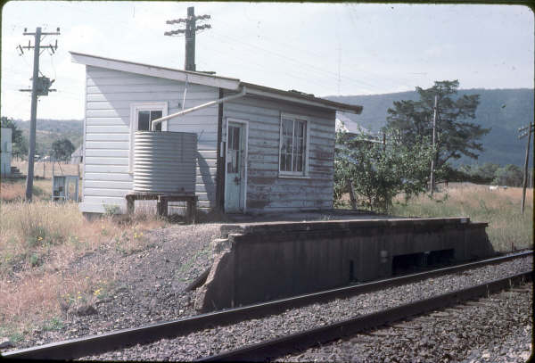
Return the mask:
M69 51L184 69L184 37L166 21L210 14L196 36L197 70L317 96L376 95L458 79L460 88L533 88L534 16L522 5L12 1L2 9L0 113L29 120L34 44L57 92L37 118L82 120L85 68Z

